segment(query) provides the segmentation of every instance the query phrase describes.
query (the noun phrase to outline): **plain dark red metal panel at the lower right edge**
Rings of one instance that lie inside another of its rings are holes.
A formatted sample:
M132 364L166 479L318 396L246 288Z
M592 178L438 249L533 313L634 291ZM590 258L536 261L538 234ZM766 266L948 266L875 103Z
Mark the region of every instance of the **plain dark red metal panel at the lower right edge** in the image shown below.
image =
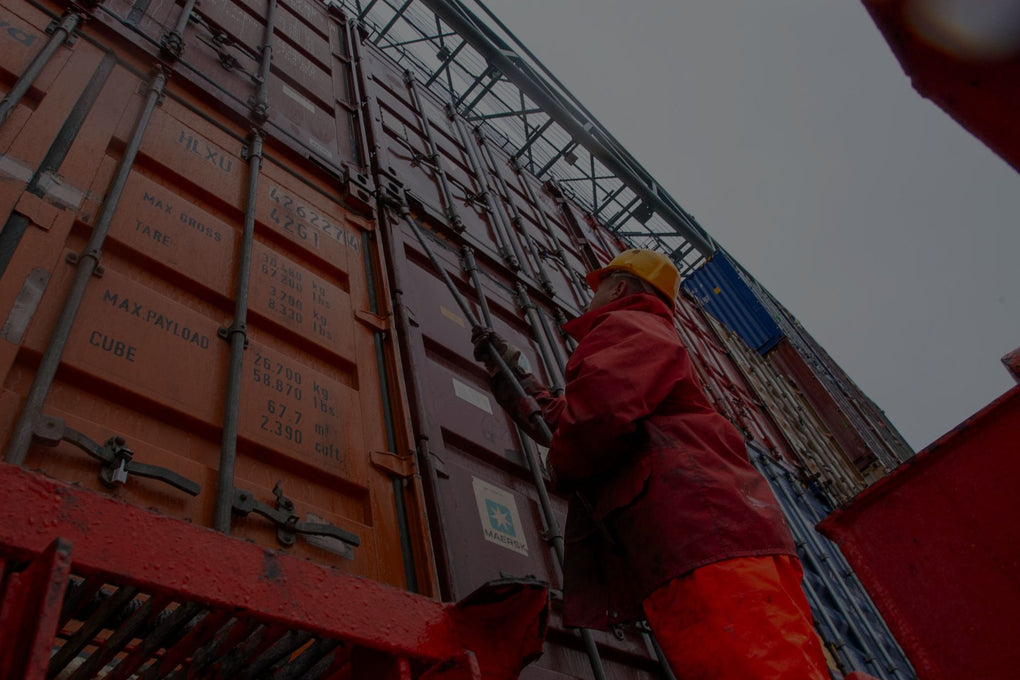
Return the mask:
M825 519L924 678L1016 677L1020 387Z

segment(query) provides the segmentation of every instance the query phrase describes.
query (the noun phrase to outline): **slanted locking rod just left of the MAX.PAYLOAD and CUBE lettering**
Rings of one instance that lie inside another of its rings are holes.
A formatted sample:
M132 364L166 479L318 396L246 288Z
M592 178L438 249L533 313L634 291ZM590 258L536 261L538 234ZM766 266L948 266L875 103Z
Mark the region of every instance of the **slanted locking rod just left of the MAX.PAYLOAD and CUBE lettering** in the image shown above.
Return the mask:
M60 357L63 354L64 347L67 345L67 338L70 336L74 319L82 307L82 300L85 298L89 280L100 268L99 260L102 257L102 248L103 243L106 241L106 232L110 228L113 213L120 202L120 195L123 193L124 184L128 181L132 165L135 163L135 156L142 146L142 137L149 125L153 109L156 108L156 104L163 95L163 87L165 85L166 73L162 69L159 69L149 85L149 92L146 96L142 113L135 123L135 129L128 142L128 146L124 147L120 162L117 164L113 180L106 192L106 200L103 201L103 206L96 217L96 223L92 227L92 236L89 238L89 243L82 254L73 260L78 264L74 281L71 283L70 290L67 292L67 297L64 299L60 316L57 318L56 326L50 334L50 342L43 353L39 368L36 370L36 377L32 381L32 387L29 388L29 395L26 397L24 406L21 407L21 414L18 416L17 424L14 425L14 430L10 437L10 442L7 444L5 458L8 463L13 465L24 463L24 458L29 453L29 444L32 442L32 430L36 419L39 417L43 403L46 401L46 396L50 391L50 385L53 384L57 367L60 365Z

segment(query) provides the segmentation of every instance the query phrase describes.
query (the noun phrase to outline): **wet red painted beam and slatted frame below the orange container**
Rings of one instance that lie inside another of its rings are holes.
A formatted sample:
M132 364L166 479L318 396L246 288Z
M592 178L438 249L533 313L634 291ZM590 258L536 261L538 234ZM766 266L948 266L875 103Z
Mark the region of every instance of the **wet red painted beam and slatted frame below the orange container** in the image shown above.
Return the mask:
M539 581L441 604L15 466L0 487L2 678L511 680L542 651Z

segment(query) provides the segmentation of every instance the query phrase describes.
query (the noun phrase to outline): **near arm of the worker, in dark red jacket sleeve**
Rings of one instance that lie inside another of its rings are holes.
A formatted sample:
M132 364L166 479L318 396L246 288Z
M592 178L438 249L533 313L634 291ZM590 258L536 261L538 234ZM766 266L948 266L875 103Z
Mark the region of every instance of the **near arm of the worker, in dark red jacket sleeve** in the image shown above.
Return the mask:
M673 390L684 361L676 331L647 314L619 312L593 327L567 365L548 461L557 476L582 481L632 452L641 421Z

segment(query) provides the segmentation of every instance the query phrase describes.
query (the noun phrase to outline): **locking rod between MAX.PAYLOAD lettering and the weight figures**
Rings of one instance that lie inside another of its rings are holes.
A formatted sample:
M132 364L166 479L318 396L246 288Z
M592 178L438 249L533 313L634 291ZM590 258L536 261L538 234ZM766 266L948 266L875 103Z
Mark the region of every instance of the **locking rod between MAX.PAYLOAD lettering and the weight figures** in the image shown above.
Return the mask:
M238 267L234 323L220 328L220 337L231 344L231 365L226 378L223 406L223 432L219 450L219 476L216 480L216 514L213 527L231 532L231 509L234 506L234 467L238 458L238 427L241 420L241 372L245 346L248 344L248 293L251 286L252 246L255 242L255 204L258 175L262 168L262 134L253 132L248 147L248 194L245 223L241 234L241 263Z

